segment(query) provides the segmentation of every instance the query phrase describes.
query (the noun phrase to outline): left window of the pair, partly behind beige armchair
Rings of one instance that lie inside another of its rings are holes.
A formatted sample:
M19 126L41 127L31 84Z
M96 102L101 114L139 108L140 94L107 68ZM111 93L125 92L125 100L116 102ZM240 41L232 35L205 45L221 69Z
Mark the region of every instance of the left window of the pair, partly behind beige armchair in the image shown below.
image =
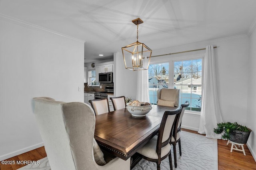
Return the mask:
M156 104L156 92L169 86L169 63L150 64L148 67L148 86L150 103Z

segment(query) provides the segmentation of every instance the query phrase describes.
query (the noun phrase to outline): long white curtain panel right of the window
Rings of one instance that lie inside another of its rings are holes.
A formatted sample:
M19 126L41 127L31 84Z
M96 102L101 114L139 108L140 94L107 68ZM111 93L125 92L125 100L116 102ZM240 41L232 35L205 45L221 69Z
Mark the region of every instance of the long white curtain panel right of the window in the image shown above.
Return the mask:
M221 139L221 135L213 132L217 123L222 122L216 84L214 47L208 45L204 59L202 108L198 133L206 134L208 138Z

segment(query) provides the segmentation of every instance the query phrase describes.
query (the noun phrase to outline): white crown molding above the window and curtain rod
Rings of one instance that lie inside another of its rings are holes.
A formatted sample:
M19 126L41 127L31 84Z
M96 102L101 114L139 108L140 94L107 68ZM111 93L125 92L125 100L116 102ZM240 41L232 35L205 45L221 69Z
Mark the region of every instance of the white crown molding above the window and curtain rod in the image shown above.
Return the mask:
M244 39L244 38L248 38L248 35L242 34L242 35L235 35L235 36L230 36L230 37L225 37L225 38L220 38L220 39L213 39L213 40L209 40L209 41L195 42L195 43L190 43L190 44L186 44L186 45L178 45L178 46L174 46L174 47L156 49L156 50L154 50L154 52L156 52L156 53L161 52L161 51L173 51L174 52L177 49L191 49L191 48L195 48L195 47L204 48L206 44L210 45L210 44L214 44L217 42L230 41L233 39ZM214 45L216 45L216 44L214 44Z

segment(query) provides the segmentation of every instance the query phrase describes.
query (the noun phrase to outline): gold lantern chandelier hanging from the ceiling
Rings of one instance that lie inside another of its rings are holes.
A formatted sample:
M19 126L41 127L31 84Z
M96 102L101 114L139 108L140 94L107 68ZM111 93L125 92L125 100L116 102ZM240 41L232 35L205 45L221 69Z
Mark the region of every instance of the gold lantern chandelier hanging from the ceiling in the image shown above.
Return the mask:
M132 20L132 22L137 25L137 41L126 47L122 47L124 65L128 70L148 70L152 50L144 43L138 41L138 27L143 21L140 18L137 18Z

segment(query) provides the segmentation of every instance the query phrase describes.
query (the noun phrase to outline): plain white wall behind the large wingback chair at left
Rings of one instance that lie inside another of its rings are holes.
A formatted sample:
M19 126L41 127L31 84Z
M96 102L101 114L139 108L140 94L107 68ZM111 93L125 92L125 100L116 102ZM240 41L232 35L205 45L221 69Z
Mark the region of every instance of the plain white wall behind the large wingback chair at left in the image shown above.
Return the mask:
M0 18L0 160L43 145L32 98L83 102L84 41Z

